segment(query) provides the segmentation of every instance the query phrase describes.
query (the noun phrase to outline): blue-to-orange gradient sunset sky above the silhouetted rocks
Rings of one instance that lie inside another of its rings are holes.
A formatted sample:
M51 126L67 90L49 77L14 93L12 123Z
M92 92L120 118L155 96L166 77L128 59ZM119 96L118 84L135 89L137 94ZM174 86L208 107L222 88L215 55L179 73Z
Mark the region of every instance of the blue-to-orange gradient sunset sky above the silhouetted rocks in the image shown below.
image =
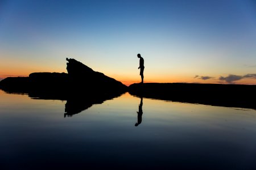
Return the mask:
M256 84L256 1L0 0L0 78L75 58L125 84Z

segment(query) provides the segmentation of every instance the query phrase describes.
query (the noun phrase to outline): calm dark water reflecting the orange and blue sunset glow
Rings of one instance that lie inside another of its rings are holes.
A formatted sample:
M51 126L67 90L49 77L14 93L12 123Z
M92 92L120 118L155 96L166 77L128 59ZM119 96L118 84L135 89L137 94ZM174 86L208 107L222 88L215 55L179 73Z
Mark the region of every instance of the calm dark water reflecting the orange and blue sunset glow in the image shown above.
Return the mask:
M256 111L131 96L72 116L0 91L0 169L256 169Z

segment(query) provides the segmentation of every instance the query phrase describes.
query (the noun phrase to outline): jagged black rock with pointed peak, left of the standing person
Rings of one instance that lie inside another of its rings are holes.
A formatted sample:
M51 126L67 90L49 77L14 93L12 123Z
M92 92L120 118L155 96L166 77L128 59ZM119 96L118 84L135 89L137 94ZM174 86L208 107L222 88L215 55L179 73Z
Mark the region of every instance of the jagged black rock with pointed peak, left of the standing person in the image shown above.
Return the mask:
M42 99L67 100L82 95L116 96L127 86L90 67L67 58L67 73L31 73L28 77L9 77L0 82L7 92L27 93Z

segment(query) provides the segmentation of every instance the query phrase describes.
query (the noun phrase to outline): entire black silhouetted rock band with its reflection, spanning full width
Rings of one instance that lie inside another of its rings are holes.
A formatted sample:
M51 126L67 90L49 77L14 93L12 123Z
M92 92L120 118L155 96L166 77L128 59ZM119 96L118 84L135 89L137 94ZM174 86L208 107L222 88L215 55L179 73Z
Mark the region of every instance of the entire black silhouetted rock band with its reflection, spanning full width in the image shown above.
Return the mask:
M254 85L135 83L127 87L75 59L67 58L67 61L68 74L31 73L28 77L9 77L0 81L0 89L28 94L34 99L67 100L65 116L72 116L127 91L134 96L152 99L256 109Z

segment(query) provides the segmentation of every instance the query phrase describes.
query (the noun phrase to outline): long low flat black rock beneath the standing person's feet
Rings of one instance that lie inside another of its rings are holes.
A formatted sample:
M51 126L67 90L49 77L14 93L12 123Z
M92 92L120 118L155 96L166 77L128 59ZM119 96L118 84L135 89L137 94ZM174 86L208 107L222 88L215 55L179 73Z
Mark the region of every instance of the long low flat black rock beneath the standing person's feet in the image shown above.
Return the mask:
M129 93L151 99L256 109L256 86L241 84L135 83Z

